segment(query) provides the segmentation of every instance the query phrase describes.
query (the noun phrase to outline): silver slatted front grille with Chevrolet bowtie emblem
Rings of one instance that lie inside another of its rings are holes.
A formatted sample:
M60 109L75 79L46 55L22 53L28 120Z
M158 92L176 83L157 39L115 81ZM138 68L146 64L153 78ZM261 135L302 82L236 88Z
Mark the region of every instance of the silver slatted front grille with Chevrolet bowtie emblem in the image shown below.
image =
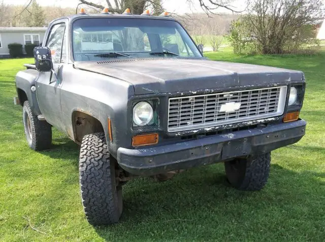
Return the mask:
M168 132L208 128L283 114L286 87L169 99Z

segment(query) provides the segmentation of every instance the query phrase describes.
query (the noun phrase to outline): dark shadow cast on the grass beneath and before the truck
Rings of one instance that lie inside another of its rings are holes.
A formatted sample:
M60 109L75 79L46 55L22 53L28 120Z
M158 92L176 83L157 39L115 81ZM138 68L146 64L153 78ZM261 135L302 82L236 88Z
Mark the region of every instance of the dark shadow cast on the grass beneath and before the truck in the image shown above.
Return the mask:
M215 239L213 234L221 228L220 235L226 235L229 229L229 236L238 233L235 239L242 236L239 228L249 224L250 232L261 233L259 227L263 227L277 237L282 233L277 226L282 226L288 230L288 237L295 237L289 224L292 220L295 228L302 227L302 233L309 227L321 231L316 221L322 217L317 211L325 198L325 183L319 180L324 173L297 173L272 165L265 189L245 192L229 187L222 168L215 169L219 165L192 169L165 183L148 179L129 182L123 188L120 223L96 227L96 232L106 240L206 240Z

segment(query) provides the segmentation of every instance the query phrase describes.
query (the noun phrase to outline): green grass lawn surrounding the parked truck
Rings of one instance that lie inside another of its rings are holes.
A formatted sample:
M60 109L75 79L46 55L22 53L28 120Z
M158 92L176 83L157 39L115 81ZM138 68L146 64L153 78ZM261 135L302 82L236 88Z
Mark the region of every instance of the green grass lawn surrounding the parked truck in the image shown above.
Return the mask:
M0 59L0 240L323 241L325 53L236 56L224 49L206 56L306 74L301 117L308 122L307 134L272 153L265 189L229 187L223 164L192 169L164 183L141 178L124 186L120 223L92 227L79 194L79 147L56 130L49 151L32 151L25 141L22 108L13 105L14 77L32 59Z

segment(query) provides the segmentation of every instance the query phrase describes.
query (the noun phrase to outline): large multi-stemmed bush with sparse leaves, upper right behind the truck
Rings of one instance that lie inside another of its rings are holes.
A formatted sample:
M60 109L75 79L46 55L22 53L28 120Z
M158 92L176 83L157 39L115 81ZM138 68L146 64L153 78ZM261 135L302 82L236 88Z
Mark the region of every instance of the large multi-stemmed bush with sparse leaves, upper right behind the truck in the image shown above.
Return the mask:
M236 43L239 49L254 44L264 54L295 52L314 37L311 25L323 19L321 7L321 0L252 0L248 14L233 25L240 33Z

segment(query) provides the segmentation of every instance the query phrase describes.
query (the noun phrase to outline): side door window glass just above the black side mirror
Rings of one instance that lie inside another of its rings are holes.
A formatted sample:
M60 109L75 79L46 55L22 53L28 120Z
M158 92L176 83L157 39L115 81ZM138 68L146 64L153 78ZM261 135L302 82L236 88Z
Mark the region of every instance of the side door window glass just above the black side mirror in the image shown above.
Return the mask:
M50 35L47 39L46 46L51 50L53 63L61 62L62 43L63 43L65 28L66 28L66 24L64 23L53 25L51 28Z

